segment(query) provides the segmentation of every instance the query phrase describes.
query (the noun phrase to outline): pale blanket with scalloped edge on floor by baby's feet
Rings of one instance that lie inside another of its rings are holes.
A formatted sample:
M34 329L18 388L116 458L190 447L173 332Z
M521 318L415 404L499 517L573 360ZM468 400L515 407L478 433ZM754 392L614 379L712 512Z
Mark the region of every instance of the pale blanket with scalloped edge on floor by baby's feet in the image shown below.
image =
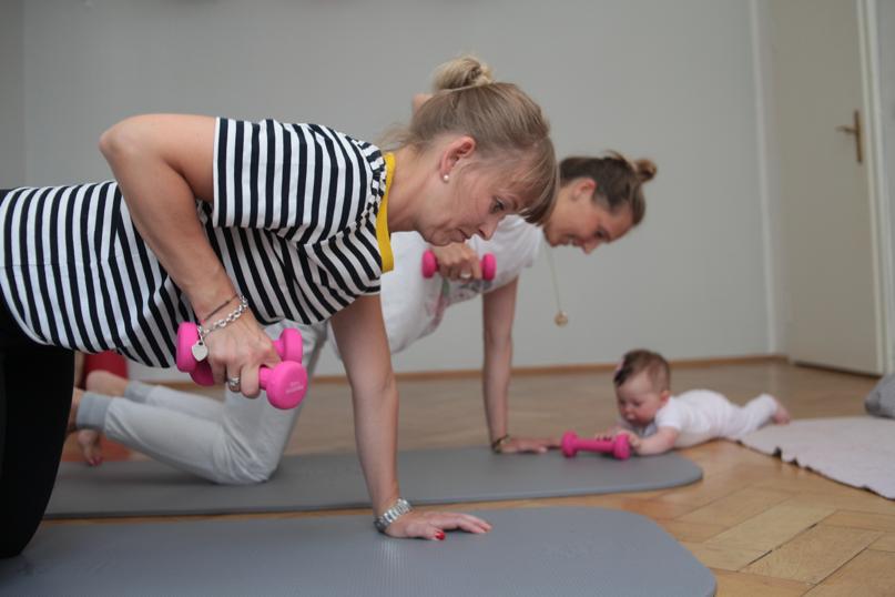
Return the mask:
M855 487L895 499L895 421L875 417L806 418L767 425L743 445Z

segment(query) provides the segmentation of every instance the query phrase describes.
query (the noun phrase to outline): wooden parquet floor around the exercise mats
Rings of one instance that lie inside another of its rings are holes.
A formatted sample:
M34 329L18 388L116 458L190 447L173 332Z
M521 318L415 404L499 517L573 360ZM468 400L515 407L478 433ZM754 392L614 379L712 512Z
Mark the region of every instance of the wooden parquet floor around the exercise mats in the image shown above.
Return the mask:
M779 361L675 367L672 378L675 391L708 387L739 403L769 392L796 418L861 415L875 383ZM353 451L347 386L317 383L313 388L287 452ZM401 448L487 441L479 380L403 381L400 392ZM568 428L593 433L616 416L609 373L519 375L510 403L510 429L517 435L558 436ZM464 504L458 509L574 505L638 513L712 569L719 596L895 595L895 502L731 442L681 453L702 467L701 482L668 490Z

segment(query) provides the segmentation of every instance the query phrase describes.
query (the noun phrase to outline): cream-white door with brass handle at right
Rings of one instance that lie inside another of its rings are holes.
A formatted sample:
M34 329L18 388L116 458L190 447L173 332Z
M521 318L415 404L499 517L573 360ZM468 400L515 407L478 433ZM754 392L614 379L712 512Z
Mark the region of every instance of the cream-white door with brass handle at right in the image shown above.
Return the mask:
M857 2L772 0L769 14L787 353L882 373Z

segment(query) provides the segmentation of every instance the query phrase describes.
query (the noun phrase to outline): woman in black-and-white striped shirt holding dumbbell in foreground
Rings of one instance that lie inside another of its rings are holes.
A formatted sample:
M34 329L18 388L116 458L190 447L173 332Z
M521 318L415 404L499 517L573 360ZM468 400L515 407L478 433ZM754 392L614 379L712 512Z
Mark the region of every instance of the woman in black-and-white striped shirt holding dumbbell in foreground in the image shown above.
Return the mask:
M531 223L550 213L547 121L517 87L481 73L475 59L448 63L447 89L387 155L314 124L145 115L102 135L115 181L2 192L0 556L24 548L49 500L77 418L71 351L166 366L183 321L228 321L207 335L207 360L217 382L254 397L258 367L278 362L261 325L330 317L378 526L430 539L490 528L400 499L378 298L390 232L444 245L489 237L509 213Z

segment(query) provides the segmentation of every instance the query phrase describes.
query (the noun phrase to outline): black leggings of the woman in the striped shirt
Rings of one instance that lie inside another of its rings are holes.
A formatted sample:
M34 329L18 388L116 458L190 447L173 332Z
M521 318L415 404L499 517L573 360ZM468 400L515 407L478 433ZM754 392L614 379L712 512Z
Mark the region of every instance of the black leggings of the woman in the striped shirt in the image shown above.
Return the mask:
M0 302L0 557L38 529L55 483L74 382L74 353L35 344Z

